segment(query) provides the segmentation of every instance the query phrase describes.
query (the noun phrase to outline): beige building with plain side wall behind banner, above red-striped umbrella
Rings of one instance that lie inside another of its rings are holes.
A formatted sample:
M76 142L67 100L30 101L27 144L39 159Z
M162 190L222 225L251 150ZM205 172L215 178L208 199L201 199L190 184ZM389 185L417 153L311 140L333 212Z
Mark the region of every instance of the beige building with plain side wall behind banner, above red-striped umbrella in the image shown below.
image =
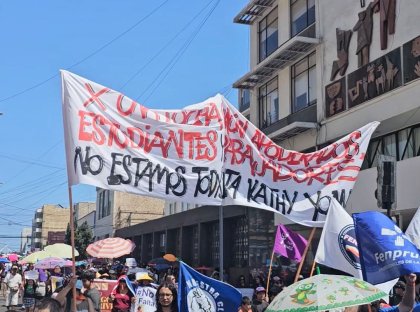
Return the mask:
M96 240L114 236L115 230L160 218L165 201L97 188Z

